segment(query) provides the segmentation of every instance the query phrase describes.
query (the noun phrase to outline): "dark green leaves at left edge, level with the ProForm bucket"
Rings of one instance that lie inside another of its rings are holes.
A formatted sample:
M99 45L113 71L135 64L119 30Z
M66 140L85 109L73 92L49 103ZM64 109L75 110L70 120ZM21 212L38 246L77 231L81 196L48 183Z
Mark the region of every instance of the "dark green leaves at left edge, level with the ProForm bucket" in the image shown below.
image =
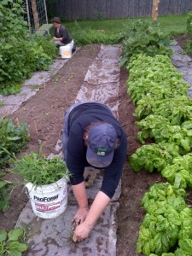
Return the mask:
M9 184L11 182L0 179L0 212L6 212L9 209Z

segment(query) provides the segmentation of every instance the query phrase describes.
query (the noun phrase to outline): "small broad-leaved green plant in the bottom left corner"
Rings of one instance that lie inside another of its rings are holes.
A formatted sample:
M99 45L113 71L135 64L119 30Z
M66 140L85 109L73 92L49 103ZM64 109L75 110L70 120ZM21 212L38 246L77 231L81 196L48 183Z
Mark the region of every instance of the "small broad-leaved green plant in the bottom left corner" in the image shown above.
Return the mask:
M0 230L0 255L2 256L21 256L27 250L24 229Z

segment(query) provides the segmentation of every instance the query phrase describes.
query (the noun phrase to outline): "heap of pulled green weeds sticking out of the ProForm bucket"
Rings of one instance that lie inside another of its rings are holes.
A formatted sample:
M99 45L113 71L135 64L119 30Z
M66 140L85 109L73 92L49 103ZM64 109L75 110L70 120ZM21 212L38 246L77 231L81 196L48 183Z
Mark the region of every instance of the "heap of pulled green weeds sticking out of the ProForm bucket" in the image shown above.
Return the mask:
M42 154L31 152L20 159L12 159L13 169L10 172L20 174L25 183L41 186L55 183L62 177L68 177L67 166L59 157L45 158Z

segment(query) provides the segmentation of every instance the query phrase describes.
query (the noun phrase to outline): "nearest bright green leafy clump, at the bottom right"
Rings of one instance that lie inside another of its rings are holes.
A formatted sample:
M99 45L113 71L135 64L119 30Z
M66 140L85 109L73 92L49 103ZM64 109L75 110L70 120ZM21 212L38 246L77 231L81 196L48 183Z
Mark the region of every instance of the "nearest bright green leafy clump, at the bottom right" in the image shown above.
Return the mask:
M184 189L156 183L145 193L142 206L147 211L139 230L137 253L166 255L178 240L183 224L181 212L189 209Z

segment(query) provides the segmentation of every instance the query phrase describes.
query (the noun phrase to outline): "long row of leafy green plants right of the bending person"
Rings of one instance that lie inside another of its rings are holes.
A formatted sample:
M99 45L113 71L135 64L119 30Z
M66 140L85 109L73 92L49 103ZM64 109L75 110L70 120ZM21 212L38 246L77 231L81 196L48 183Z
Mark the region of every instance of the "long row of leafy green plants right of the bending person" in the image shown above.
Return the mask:
M172 66L164 32L145 22L133 24L132 31L136 37L125 38L122 63L129 72L127 92L136 105L137 139L143 146L131 155L130 165L136 172L158 171L168 181L154 184L143 197L147 214L137 253L192 255L192 209L185 202L185 189L192 187L190 85Z

